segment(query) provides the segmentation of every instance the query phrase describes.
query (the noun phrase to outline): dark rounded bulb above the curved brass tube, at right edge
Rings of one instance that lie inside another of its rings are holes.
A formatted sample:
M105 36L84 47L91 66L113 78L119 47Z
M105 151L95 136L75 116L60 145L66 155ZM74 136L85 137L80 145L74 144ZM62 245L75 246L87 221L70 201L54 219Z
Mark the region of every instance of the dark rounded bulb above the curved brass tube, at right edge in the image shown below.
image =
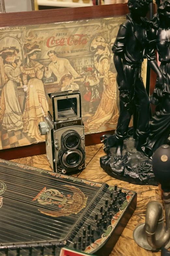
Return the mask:
M170 146L160 146L152 157L152 169L163 190L170 189Z

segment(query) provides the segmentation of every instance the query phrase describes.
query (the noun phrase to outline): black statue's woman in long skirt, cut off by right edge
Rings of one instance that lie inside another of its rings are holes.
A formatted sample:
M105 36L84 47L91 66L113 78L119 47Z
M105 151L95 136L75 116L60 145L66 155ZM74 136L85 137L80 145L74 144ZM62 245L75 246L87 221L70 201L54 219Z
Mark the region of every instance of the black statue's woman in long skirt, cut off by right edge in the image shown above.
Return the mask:
M167 143L170 134L170 1L161 3L150 24L150 50L157 49L164 84L156 84L150 96L150 102L157 107L150 120L149 143L145 147L149 157L159 146Z

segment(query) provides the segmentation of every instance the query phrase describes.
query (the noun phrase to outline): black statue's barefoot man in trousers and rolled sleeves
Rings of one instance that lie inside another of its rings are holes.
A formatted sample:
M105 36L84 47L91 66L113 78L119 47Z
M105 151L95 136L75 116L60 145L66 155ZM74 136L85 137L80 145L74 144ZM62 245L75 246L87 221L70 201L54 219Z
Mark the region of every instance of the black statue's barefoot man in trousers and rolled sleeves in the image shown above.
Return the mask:
M130 14L120 25L119 32L112 47L114 64L117 70L117 82L120 85L120 116L115 136L117 139L115 160L122 158L123 140L128 136L128 126L134 111L138 109L138 124L136 134L138 144L136 149L143 151L149 135L149 97L141 77L141 64L144 58L149 60L150 67L158 75L157 86L163 85L163 75L155 61L153 49L148 51L147 30L149 20L146 14L151 0L129 0Z

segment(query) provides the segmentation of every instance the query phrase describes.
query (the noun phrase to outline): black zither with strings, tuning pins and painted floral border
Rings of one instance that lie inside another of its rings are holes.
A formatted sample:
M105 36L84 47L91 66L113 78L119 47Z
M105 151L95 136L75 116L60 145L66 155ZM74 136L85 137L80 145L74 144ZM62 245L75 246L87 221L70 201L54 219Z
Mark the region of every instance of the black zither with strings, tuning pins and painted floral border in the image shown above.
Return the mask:
M136 193L0 160L0 256L59 255L67 246L109 255Z

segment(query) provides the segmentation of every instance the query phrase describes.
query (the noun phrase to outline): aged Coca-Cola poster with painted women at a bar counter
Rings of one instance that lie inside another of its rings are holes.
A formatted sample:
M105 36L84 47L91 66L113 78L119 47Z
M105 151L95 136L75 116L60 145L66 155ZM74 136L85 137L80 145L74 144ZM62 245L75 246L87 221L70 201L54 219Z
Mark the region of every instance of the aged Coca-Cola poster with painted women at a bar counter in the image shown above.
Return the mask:
M116 128L111 48L125 18L0 28L0 149L45 141L38 123L48 113L48 93L80 91L86 133Z

